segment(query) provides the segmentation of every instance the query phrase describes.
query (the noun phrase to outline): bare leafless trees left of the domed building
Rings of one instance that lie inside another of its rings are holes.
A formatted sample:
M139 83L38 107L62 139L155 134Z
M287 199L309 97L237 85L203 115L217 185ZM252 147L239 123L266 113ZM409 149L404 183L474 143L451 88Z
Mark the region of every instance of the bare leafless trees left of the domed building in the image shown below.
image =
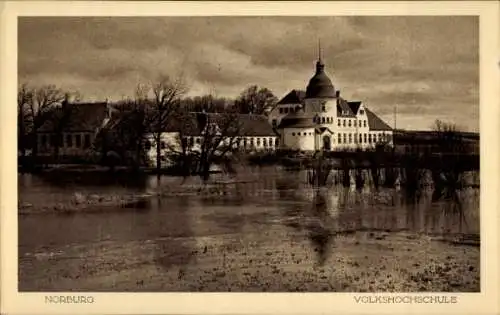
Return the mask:
M164 158L162 151L165 149L163 131L175 129L179 132L179 139L178 145L170 148L173 158L181 164L183 172L194 169L208 178L210 166L216 160L220 162L224 159L239 141L241 122L238 114L264 114L277 101L269 89L256 85L246 88L234 99L212 94L189 97L188 91L188 86L181 78L167 75L161 75L147 84L138 84L132 93L133 97L113 104L114 115L119 119L112 128L101 130L92 146L94 153L102 158L102 162L113 164L118 159L126 159L131 167L139 168L146 162L145 146L150 144L156 152L155 165L159 174ZM20 85L19 154L25 158L27 152L31 151L30 163L36 164L40 128L51 120L53 157L57 161L62 133L71 115L71 106L63 104L79 102L82 98L78 91L64 91L55 85ZM197 115L196 122L203 126L198 150L192 149L193 144L186 140L185 135L186 128L193 124L193 112L216 114Z

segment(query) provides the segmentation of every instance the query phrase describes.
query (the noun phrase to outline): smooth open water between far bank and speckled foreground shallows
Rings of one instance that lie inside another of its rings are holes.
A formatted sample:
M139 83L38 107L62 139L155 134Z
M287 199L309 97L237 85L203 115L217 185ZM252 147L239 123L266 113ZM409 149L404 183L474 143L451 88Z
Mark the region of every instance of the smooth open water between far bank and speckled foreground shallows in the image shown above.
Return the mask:
M195 181L188 180L183 185ZM316 253L316 262L324 263L328 255L325 248L336 234L405 231L449 239L479 235L477 188L463 189L456 192L456 198L445 200L433 199L429 188L408 196L400 187L375 189L367 185L356 189L332 185L314 189L306 181L305 172L262 169L237 183L221 184L208 196L155 196L140 207L92 213L36 214L35 210L32 214L20 214L19 257L29 265L21 266L21 287L23 277L30 279L44 272L36 267L40 259L33 257L54 253L64 256L68 248L90 248L102 242L126 246L130 242L158 239L225 237L242 244L251 243L252 237L260 242L271 241L266 239L272 237L266 236L266 231L279 230L289 237L283 241L293 243L307 238L307 244ZM76 195L143 194L179 186L181 182L181 178L175 177L163 177L158 182L153 176L110 180L105 175L54 179L20 174L19 203L36 209L71 202ZM189 264L189 258L179 257L190 257L183 253L198 250L196 242L199 241L182 246L169 242L161 254L153 254L156 258L152 260L163 265ZM162 260L158 255L177 258ZM33 290L36 283L31 281L24 287Z

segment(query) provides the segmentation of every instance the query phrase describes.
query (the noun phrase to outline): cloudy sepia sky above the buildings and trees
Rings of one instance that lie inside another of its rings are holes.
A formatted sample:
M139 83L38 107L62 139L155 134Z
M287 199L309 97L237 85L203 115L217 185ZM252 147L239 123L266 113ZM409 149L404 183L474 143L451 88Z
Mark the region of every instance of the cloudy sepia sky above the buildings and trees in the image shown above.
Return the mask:
M257 84L305 89L321 39L326 71L348 100L386 122L435 119L479 130L476 17L23 17L19 81L132 96L138 83L182 75L191 95L233 97Z

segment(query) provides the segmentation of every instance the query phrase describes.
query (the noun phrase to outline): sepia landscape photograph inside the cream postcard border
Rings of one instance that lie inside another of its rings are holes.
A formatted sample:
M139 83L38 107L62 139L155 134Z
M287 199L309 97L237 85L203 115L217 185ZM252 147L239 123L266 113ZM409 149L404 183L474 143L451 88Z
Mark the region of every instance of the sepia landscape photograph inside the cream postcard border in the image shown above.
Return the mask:
M17 23L19 292L481 292L478 16Z

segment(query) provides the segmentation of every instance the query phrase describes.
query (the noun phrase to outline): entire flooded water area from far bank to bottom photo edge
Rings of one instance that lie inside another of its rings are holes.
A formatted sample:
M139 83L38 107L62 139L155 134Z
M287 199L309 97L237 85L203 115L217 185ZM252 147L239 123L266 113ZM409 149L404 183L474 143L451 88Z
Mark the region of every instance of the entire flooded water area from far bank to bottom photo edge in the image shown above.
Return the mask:
M19 290L480 291L477 185L438 198L308 176L256 168L200 192L19 175Z

